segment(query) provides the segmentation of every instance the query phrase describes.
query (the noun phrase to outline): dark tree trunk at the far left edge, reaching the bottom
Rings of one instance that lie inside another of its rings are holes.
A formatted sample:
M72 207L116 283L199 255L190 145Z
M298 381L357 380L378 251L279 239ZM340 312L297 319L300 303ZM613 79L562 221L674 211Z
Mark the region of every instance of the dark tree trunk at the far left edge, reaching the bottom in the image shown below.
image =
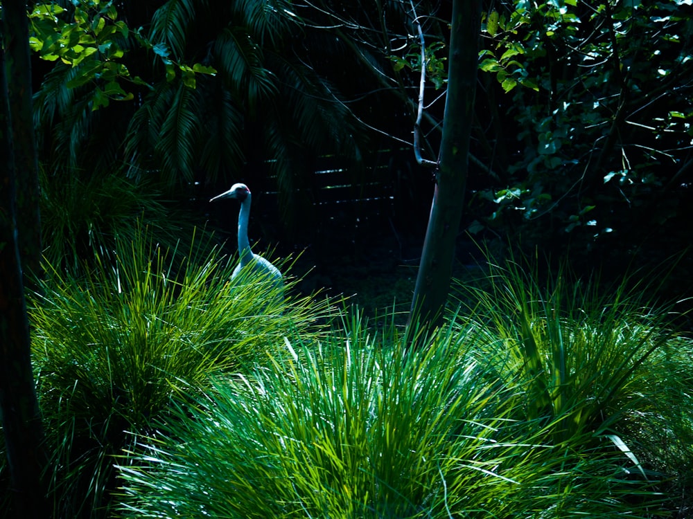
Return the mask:
M5 65L7 26L3 23L12 19L18 10L26 17L26 3L5 0L4 19L0 19L3 37L0 45L0 411L14 516L49 518L51 514L44 484L44 432L31 370L15 210L18 173L35 174L36 170L18 171L15 166ZM28 38L24 44L28 46ZM30 89L26 84L24 88Z

